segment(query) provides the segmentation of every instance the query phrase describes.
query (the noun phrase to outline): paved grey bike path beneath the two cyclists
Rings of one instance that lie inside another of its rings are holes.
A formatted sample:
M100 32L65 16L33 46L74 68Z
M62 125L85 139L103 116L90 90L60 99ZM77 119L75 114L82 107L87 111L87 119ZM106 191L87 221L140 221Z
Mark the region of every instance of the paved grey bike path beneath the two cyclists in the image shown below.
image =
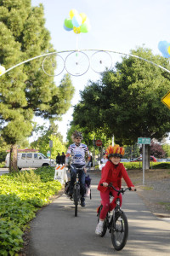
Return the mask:
M92 177L92 200L86 207L74 207L65 195L44 207L31 222L31 240L28 256L164 256L170 255L170 223L156 218L144 206L137 193L128 191L123 195L122 209L126 212L129 235L126 246L116 252L111 235L95 235L96 208L99 206L99 177Z

